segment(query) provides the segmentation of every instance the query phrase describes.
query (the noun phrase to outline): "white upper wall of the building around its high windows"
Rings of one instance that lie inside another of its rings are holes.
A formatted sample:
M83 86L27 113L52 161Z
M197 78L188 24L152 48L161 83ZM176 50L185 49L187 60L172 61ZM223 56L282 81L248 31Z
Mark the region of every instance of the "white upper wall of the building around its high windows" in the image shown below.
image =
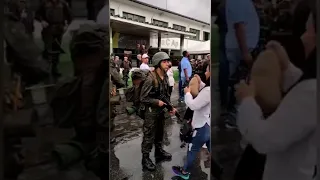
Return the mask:
M168 22L169 27L172 27L173 24L177 24L186 27L187 31L189 31L190 28L200 30L200 40L203 40L204 31L210 33L210 25L196 22L170 13L161 12L156 9L126 0L110 0L110 9L114 9L115 15L122 16L123 12L128 12L144 16L146 18L146 21L150 23L152 22L152 19L156 19Z

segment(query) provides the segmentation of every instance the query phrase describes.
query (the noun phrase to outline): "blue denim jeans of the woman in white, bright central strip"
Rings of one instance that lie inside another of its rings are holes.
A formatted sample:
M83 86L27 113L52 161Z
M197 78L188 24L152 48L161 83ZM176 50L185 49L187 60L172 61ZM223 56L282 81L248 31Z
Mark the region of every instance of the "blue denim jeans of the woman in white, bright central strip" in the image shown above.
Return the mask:
M188 171L196 159L202 146L206 144L208 151L211 152L210 145L210 132L211 128L208 124L205 124L201 128L197 128L193 132L192 142L188 145L187 162L184 165L184 170Z

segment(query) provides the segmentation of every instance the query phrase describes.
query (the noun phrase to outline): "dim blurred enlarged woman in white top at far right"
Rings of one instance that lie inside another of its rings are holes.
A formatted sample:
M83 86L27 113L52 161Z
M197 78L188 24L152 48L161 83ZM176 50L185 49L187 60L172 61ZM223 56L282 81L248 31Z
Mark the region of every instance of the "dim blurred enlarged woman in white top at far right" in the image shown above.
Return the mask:
M281 55L285 96L275 112L262 118L254 99L254 82L241 82L237 87L239 130L258 153L266 154L264 180L311 180L316 175L316 6L313 2L308 7L306 31L299 39L292 37L294 46L288 41L267 45ZM297 58L294 54L302 55Z

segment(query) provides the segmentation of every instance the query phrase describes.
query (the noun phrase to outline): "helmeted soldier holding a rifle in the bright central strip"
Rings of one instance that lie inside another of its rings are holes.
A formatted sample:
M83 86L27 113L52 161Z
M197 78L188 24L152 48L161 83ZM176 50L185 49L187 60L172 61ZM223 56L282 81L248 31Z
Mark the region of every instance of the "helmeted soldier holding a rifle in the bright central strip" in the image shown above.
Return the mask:
M165 103L159 100L160 94L170 98L169 80L166 71L169 69L167 53L158 52L152 57L155 70L149 74L141 87L140 103L144 109L143 139L141 144L142 166L144 169L154 171L156 166L151 161L149 153L155 145L156 162L171 160L171 154L163 150L164 123L168 116L164 111ZM175 113L176 109L173 110Z

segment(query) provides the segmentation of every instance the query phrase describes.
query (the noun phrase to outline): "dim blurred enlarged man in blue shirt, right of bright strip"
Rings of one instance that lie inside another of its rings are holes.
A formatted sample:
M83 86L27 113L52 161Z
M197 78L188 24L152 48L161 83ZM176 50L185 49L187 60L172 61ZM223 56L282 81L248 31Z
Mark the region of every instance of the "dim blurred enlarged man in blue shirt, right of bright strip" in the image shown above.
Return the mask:
M228 30L225 39L226 56L229 80L232 80L231 77L240 78L234 77L240 65L250 67L252 64L251 52L258 44L260 23L252 0L226 0L225 13ZM228 112L234 111L235 98L232 89L233 86L230 86ZM234 119L233 113L230 117Z

